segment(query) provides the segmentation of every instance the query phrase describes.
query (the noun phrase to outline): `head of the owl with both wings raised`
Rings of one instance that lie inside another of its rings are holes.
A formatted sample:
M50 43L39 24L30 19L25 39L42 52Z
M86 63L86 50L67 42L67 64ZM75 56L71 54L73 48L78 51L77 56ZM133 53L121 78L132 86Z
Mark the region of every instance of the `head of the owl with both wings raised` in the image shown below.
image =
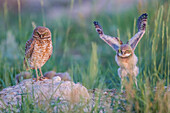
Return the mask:
M133 54L133 50L130 45L123 44L120 46L120 49L117 50L117 55L123 58L129 57Z

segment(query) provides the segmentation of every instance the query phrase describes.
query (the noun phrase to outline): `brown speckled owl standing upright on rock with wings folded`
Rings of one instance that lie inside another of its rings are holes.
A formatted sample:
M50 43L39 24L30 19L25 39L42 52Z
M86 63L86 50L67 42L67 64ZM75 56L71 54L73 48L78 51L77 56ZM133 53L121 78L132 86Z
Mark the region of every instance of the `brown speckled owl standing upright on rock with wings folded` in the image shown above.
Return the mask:
M41 78L43 74L41 67L47 62L51 57L53 51L51 32L46 27L36 27L33 31L32 38L26 42L25 45L25 58L24 63L26 68L35 69L36 71L36 81L39 80L38 71L39 69ZM28 66L28 65L29 66Z

